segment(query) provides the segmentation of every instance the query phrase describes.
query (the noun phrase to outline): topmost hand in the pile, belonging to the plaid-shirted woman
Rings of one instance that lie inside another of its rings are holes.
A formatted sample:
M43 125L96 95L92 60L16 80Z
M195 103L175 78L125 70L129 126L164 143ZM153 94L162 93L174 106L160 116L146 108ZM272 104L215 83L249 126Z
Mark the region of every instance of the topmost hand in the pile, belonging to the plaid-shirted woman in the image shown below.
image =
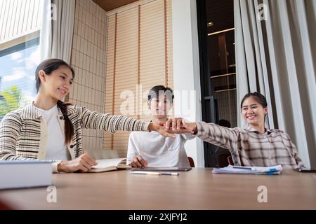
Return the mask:
M197 133L197 124L196 123L185 123L183 118L170 118L164 124L166 131L169 133L183 134Z

